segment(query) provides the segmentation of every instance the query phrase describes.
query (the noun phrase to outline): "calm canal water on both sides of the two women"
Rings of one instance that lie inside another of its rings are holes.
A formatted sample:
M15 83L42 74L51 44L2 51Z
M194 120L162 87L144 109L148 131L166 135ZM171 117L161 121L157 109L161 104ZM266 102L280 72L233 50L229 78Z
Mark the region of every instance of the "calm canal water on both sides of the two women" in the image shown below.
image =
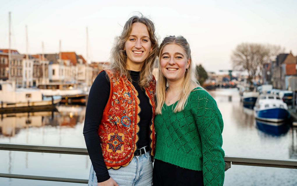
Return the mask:
M226 156L297 159L297 129L289 123L256 121L244 109L236 89L210 92L224 120ZM232 101L230 101L230 96ZM83 122L86 107L60 105L57 111L1 115L0 143L86 147ZM0 150L0 173L88 179L88 156ZM0 178L0 185L86 185ZM297 185L297 169L231 165L224 185Z

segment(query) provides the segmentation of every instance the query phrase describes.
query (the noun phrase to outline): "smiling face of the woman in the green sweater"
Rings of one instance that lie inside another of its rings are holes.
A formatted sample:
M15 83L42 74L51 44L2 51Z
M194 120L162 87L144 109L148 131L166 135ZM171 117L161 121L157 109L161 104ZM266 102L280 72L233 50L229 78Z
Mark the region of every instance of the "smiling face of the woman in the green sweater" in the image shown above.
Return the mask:
M165 45L161 51L160 68L168 83L182 82L190 62L184 49L177 44Z

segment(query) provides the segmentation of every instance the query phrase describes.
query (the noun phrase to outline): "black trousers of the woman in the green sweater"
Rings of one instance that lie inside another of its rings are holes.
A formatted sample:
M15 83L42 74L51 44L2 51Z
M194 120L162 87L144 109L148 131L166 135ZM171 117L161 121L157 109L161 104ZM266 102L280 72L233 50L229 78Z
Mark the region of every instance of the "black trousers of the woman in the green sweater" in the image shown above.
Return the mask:
M202 171L181 168L154 160L153 186L203 186Z

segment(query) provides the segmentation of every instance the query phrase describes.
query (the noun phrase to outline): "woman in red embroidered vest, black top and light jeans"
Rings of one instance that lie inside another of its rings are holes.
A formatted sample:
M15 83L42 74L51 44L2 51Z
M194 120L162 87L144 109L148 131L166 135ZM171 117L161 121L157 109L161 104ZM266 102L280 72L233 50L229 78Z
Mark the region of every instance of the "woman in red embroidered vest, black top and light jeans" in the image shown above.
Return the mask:
M152 185L154 32L148 18L129 18L112 49L110 68L93 82L83 129L92 162L90 186Z

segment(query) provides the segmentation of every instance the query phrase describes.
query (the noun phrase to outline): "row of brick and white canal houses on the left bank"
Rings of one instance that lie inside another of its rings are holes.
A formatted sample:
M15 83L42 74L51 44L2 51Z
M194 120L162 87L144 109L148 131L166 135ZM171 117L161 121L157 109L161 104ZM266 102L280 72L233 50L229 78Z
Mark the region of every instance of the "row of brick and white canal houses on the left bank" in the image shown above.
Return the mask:
M10 55L10 63L9 61ZM0 49L0 80L15 82L16 87L37 87L40 83L82 83L90 86L106 62L87 64L75 52L58 54L20 54Z

